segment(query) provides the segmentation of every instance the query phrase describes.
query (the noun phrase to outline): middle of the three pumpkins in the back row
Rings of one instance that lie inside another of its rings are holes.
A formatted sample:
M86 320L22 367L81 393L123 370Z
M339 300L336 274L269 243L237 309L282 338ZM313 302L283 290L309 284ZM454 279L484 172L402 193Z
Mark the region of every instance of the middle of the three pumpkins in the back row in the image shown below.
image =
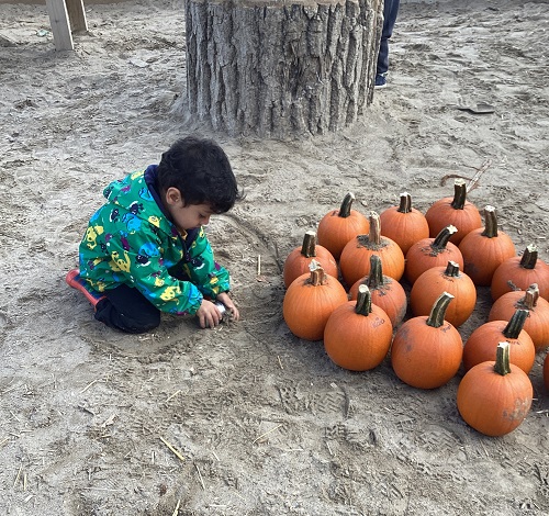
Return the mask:
M412 197L401 193L401 203L380 213L381 234L399 244L405 255L410 247L422 238L428 238L429 225L425 215L412 207Z

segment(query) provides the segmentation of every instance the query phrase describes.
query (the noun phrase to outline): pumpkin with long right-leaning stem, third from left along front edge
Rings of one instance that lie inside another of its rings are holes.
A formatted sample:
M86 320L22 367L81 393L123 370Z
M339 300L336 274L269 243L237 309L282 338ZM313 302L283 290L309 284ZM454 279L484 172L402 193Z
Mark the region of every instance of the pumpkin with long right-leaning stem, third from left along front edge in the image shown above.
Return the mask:
M458 372L463 343L459 332L445 321L452 298L444 292L428 316L410 318L396 330L391 364L404 383L418 389L436 389Z

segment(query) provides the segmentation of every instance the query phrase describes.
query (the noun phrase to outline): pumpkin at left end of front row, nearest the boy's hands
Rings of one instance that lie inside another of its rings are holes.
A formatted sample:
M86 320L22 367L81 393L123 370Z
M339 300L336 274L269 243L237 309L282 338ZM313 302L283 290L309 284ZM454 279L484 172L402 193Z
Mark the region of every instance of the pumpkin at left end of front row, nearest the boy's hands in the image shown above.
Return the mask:
M284 294L282 314L290 332L305 340L321 340L337 306L348 301L339 281L312 261L310 272L292 281Z

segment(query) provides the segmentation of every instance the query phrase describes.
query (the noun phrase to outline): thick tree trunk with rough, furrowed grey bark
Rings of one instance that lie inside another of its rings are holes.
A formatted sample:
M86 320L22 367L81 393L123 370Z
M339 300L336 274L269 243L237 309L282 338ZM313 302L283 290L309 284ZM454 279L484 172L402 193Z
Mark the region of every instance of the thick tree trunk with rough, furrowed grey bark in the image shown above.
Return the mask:
M335 132L372 99L383 0L187 0L190 113L232 136Z

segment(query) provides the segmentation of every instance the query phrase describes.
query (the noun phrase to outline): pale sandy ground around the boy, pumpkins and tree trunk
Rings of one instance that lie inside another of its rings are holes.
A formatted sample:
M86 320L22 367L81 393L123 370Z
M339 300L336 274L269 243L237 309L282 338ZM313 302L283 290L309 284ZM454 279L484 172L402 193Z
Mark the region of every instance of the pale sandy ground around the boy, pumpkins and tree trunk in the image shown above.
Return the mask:
M489 438L459 416L462 372L428 392L388 360L350 373L281 315L283 259L347 191L365 213L403 190L425 211L488 160L469 199L549 259L547 2L403 3L390 87L352 127L290 143L183 122L181 1L87 16L56 53L44 5L0 5L0 514L548 514L545 354L530 414ZM495 113L453 106L480 101ZM64 282L88 217L108 182L198 131L247 192L209 227L243 318L102 327ZM463 339L489 309L479 289Z

